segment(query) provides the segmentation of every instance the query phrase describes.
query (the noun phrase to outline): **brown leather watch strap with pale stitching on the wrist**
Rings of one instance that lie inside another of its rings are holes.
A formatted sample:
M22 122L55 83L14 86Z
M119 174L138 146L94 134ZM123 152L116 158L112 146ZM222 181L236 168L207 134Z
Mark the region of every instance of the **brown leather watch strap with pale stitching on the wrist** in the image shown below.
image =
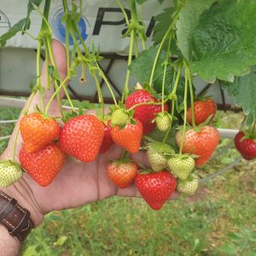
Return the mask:
M0 224L9 231L10 236L24 241L34 228L31 213L20 207L15 198L0 191Z

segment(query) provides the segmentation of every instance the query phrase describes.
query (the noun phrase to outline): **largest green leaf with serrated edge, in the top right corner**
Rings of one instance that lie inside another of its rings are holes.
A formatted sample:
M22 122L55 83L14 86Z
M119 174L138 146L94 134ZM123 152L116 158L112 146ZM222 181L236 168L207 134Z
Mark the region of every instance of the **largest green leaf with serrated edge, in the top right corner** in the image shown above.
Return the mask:
M210 83L248 73L256 64L255 26L254 0L213 4L192 32L191 72Z

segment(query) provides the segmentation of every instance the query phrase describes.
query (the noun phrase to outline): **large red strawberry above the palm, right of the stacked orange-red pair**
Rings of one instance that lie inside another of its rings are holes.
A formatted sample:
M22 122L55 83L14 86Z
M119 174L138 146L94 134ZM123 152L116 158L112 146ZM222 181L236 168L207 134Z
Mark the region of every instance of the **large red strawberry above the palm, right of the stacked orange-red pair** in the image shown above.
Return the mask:
M104 126L93 115L69 119L60 135L61 149L74 158L89 163L96 159L102 146Z

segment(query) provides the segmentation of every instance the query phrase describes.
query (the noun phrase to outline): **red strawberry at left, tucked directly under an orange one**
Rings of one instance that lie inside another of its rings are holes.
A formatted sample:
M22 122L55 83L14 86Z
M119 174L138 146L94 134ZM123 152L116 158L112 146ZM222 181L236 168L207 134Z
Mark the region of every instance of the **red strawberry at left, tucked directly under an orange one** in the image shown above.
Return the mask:
M55 143L32 154L26 153L24 147L20 149L20 165L42 187L54 180L64 161L65 154Z

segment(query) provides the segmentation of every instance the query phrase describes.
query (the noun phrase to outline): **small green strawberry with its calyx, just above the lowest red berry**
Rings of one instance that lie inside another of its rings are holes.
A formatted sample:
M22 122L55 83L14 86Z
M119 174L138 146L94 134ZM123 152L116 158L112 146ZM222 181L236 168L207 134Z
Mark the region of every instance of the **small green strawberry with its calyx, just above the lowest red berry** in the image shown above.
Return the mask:
M148 143L147 156L154 172L161 172L166 168L166 154L174 154L170 145L166 143Z

